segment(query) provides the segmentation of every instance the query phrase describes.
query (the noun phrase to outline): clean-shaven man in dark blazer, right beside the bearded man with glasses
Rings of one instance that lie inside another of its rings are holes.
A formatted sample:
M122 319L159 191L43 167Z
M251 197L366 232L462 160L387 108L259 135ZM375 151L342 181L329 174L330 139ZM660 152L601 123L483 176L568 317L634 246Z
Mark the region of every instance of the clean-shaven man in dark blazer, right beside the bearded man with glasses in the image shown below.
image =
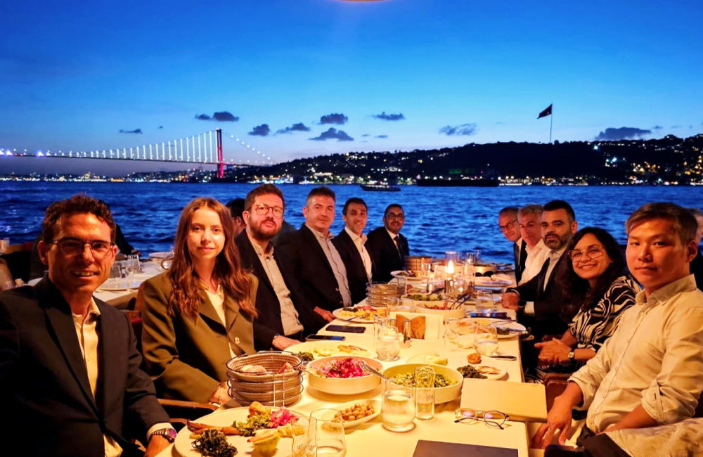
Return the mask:
M295 271L294 288L302 294L304 305L327 321L335 318L330 311L352 305L347 269L330 233L336 198L325 186L310 191L303 208L305 223L281 236L276 245L285 268Z

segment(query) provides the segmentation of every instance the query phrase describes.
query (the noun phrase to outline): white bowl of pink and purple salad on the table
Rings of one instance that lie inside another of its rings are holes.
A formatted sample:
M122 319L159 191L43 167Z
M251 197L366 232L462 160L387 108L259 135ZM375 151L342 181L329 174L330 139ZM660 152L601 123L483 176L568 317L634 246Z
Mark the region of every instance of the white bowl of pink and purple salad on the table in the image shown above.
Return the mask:
M375 389L381 378L361 370L361 363L378 371L380 361L363 356L330 356L308 363L308 385L327 394L354 395Z

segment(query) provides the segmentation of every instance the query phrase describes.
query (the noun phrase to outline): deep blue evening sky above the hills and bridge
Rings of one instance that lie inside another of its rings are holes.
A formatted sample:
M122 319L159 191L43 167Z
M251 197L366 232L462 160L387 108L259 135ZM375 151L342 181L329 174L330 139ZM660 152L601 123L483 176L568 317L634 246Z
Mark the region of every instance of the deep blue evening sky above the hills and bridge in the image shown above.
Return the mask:
M129 148L217 127L276 162L546 142L536 117L550 103L559 141L703 131L699 1L77 3L0 4L0 148ZM195 119L214 112L238 120ZM346 121L321 123L333 114ZM310 130L276 134L294 124Z

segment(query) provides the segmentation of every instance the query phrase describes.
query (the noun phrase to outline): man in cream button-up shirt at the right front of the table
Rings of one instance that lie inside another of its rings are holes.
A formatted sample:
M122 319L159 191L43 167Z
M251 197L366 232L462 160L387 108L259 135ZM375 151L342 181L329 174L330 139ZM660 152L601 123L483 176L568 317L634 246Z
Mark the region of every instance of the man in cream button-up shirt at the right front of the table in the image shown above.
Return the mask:
M690 418L703 390L703 292L689 272L695 219L673 203L649 203L626 221L627 265L644 286L615 334L569 378L532 439L569 437L572 408L588 408L594 433Z

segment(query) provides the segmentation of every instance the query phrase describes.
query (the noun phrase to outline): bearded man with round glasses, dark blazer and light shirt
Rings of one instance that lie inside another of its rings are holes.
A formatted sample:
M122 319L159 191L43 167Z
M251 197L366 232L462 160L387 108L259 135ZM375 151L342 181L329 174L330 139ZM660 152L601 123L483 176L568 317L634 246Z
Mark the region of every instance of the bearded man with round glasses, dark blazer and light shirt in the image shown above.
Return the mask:
M276 260L271 238L283 222L283 192L273 184L262 184L247 195L244 207L246 230L235 242L243 268L259 278L254 346L258 350L283 350L317 333L327 322L311 309L296 304L303 299L292 288L293 275L283 262Z

